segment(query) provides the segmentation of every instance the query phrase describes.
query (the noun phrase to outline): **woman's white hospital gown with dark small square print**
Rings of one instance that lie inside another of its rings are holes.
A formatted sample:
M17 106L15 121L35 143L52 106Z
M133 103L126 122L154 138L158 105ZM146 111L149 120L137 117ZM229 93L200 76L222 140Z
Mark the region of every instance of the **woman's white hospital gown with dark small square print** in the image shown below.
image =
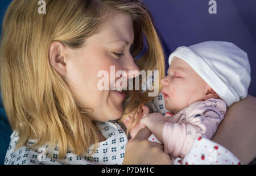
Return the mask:
M98 144L95 153L89 154L93 146L81 156L68 150L64 159L58 159L57 146L49 149L46 144L40 148L30 148L29 146L35 143L34 140L29 140L26 145L15 149L19 135L14 131L7 149L5 165L122 164L127 137L121 126L114 122L100 122L97 127L106 140ZM52 151L52 154L48 151Z

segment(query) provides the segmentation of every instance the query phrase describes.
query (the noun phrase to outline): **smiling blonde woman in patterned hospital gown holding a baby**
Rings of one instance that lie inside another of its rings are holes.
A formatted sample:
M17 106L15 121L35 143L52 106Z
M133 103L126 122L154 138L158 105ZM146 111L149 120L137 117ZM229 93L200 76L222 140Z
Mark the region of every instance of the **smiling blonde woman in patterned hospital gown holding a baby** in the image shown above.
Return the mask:
M146 6L128 0L48 0L46 14L38 14L37 9L36 1L15 0L3 20L1 91L16 132L5 164L146 164L144 160L171 164L161 145L144 140L147 129L128 143L125 154L125 133L118 124L107 122L136 112L152 97L127 91L130 98L123 111L123 93L97 89L98 72L110 74L110 66L115 66L115 73L125 70L126 80L136 76L129 70L157 68L159 78L164 76L163 50ZM143 33L148 51L134 61L142 49ZM108 87L115 82L117 78L109 79ZM243 107L242 101L237 104L228 114ZM232 118L239 119L240 114ZM234 122L221 125L234 130L229 124ZM220 134L233 137L233 133L225 135L225 131ZM239 157L243 149L232 152ZM140 157L144 154L154 157ZM248 158L246 154L241 161Z

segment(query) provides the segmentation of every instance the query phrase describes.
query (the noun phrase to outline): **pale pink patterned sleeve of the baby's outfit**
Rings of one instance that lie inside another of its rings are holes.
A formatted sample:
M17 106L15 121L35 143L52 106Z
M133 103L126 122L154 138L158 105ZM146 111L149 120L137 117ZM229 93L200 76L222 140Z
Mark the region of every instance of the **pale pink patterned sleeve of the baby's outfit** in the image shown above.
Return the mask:
M164 152L184 158L198 137L211 139L224 118L226 104L221 99L195 102L179 113L166 113L168 122L163 129Z

